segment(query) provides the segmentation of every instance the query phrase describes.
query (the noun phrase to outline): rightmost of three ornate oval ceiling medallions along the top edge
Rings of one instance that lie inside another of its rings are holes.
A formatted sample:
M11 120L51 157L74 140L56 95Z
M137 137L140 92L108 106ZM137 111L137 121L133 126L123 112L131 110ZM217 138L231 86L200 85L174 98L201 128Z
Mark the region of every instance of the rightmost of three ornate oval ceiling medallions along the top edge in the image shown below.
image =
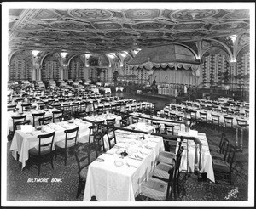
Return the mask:
M218 9L184 9L170 14L170 18L176 20L201 20L218 14Z

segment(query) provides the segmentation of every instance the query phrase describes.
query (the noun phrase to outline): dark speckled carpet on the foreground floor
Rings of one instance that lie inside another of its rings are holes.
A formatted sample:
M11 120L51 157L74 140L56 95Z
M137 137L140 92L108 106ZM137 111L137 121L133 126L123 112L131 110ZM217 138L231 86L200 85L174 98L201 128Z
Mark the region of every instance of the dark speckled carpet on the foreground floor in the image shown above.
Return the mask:
M218 144L220 133L198 127L199 132L207 133L209 144ZM235 138L234 133L227 133L228 138ZM234 165L233 185L216 180L216 183L198 182L194 174L182 173L180 193L177 201L247 201L248 199L248 146L245 139L245 149L236 153ZM55 169L50 165L42 167L38 177L37 169L21 171L20 163L15 161L9 152L7 143L7 201L83 201L83 195L76 199L78 188L78 167L74 156L64 161L57 158ZM48 178L47 183L29 183L30 178ZM61 178L62 182L51 182L54 178ZM233 192L233 193L232 193ZM232 194L233 195L232 195ZM231 194L231 195L230 195ZM234 195L235 194L235 195Z

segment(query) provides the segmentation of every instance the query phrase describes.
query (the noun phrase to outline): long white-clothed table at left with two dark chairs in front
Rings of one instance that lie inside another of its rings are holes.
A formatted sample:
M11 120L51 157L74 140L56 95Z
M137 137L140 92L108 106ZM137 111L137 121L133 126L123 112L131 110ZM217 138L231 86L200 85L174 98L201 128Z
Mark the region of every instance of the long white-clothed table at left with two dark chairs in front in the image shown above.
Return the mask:
M54 142L58 142L61 140L65 140L64 130L79 126L78 141L81 143L86 143L89 141L88 127L90 125L90 122L75 119L73 123L61 121L58 123L50 123L49 125L45 125L44 127L46 133L52 133L55 131ZM32 149L33 147L38 146L38 135L46 133L43 133L42 131L33 131L32 133L24 133L21 130L15 131L10 151L12 151L12 155L14 156L14 158L22 163L21 169L23 169L23 167L26 166L26 161L29 157L29 150ZM17 154L20 155L19 159L17 159Z

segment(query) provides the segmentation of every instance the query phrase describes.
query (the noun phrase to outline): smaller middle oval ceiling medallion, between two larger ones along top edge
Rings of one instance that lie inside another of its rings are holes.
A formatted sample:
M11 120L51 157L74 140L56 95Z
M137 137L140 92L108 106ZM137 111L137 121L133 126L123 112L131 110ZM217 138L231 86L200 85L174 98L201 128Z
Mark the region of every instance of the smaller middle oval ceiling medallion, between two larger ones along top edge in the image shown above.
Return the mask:
M130 9L125 11L125 16L130 19L153 19L159 16L156 9Z

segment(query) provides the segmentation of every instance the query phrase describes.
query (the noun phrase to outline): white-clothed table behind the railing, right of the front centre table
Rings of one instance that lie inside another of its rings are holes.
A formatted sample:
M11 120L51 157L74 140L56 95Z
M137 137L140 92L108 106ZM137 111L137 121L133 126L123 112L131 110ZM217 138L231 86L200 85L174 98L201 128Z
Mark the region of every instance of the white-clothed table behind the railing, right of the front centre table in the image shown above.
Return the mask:
M195 135L190 135L189 133L178 133L180 136L188 136L188 137L195 137ZM207 178L210 179L212 182L215 182L214 172L212 167L212 155L209 150L209 145L207 142L207 135L206 133L197 133L196 138L198 138L202 143L201 148L201 172L207 172ZM182 154L182 160L180 169L187 172L194 172L195 170L195 142L193 140L183 140L182 144L184 150ZM199 147L199 146L198 146ZM199 162L199 148L197 149L197 156ZM189 157L187 157L189 156Z

